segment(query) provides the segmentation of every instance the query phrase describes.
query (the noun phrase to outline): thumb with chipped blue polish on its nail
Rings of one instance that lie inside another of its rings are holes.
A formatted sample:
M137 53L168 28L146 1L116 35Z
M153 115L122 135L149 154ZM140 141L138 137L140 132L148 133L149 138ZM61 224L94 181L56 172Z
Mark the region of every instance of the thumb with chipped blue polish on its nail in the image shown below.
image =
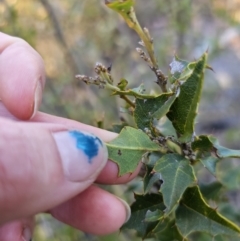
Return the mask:
M91 134L1 118L0 126L0 225L72 198L106 164L107 149Z

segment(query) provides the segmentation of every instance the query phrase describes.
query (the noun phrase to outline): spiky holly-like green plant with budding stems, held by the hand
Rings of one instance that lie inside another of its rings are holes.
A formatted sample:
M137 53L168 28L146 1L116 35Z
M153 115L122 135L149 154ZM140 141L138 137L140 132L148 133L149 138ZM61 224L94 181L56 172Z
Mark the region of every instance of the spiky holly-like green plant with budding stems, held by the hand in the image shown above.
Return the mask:
M124 109L133 117L133 124L125 123L119 136L107 143L109 158L118 164L120 176L133 172L140 159L145 165L143 182L147 190L135 195L132 216L122 229L134 229L142 239L166 241L195 240L190 235L196 232L209 234L209 240L239 238L238 225L205 201L195 170L195 166L202 165L219 179L217 163L225 158L240 158L240 151L220 146L214 137L195 134L204 72L211 69L206 63L207 53L194 62L175 57L169 75L165 76L155 57L153 38L147 28L139 25L134 1L106 1L106 5L137 32L142 46L137 52L156 75L162 92L146 94L142 84L131 89L126 79L116 83L111 67L100 63L95 67L96 77L76 76L125 100ZM159 126L161 121L171 122L167 132L175 135L164 134ZM222 202L216 200L216 206Z

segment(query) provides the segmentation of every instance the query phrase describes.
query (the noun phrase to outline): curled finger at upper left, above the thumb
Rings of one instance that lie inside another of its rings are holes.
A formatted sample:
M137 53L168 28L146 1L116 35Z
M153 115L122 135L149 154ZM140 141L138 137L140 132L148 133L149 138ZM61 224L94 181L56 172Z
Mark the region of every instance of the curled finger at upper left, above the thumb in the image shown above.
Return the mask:
M40 55L24 40L0 32L0 98L17 118L36 113L45 84Z

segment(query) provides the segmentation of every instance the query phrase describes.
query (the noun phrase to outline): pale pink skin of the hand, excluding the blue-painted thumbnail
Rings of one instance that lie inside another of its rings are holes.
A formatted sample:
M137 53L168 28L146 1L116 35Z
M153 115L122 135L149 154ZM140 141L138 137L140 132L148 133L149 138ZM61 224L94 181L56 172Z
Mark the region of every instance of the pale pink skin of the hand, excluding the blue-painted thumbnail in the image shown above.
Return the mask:
M74 128L104 142L116 134L38 112L44 84L40 55L22 39L0 33L0 240L24 241L25 228L32 232L34 215L41 212L88 233L117 231L126 208L94 183L127 183L139 168L118 177L117 165L108 161L80 183L65 181L52 132Z

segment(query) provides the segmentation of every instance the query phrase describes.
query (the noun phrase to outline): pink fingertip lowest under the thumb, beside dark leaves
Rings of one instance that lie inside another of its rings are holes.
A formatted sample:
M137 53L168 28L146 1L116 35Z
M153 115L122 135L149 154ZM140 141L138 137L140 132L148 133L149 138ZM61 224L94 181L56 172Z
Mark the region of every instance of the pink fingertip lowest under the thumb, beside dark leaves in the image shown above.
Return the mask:
M126 222L130 215L126 205L116 196L91 186L50 213L83 232L106 235L119 230Z

